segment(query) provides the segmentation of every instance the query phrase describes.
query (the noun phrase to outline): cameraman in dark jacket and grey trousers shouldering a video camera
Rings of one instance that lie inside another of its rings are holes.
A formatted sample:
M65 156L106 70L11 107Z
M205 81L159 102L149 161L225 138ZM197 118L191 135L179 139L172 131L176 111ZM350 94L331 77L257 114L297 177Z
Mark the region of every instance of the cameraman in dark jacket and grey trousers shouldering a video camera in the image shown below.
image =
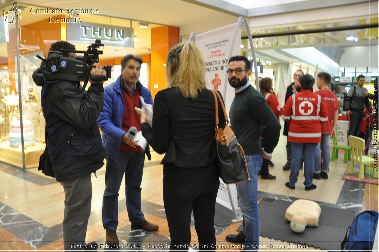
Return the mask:
M50 51L75 50L75 46L58 41ZM63 52L64 57L73 57L74 52ZM41 71L37 69L36 71ZM99 66L92 68L92 75L103 75ZM63 245L64 250L96 250L97 244L85 244L87 224L91 214L91 173L104 163L105 150L96 120L103 108L103 82L93 82L82 91L80 83L60 80L44 83L41 104L50 99L44 109L46 120L46 145L56 181L64 189ZM38 82L38 83L37 83ZM50 97L49 97L50 96Z

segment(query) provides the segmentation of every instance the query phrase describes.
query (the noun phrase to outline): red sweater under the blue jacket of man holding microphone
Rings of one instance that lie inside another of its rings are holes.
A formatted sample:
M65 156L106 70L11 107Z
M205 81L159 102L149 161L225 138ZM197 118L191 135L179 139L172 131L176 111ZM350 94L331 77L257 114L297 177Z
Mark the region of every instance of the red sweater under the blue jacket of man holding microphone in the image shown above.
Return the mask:
M129 128L135 126L138 131L141 130L141 119L139 114L134 110L134 107L139 106L139 90L133 92L133 97L130 95L130 91L124 86L124 83L121 81L122 95L124 96L124 118L122 119L122 129L128 132ZM137 152L143 151L140 146L133 148L132 146L127 145L124 142L121 142L120 151L126 152Z

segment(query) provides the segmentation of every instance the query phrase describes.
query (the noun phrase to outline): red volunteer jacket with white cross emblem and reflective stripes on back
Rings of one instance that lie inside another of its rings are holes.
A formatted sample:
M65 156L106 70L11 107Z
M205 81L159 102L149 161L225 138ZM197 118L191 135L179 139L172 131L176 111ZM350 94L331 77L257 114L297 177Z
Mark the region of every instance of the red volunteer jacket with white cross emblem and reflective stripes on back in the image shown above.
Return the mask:
M328 120L324 99L310 89L303 89L288 98L282 118L290 123L288 141L294 143L321 142L321 121Z

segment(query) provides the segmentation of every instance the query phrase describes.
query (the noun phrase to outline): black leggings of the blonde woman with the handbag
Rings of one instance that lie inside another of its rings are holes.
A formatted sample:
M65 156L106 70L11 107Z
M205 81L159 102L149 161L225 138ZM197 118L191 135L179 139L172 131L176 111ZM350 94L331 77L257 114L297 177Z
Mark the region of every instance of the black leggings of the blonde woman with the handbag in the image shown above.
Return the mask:
M191 209L199 252L215 251L214 220L218 188L219 178L214 163L200 168L163 165L163 203L171 238L170 251L188 251Z

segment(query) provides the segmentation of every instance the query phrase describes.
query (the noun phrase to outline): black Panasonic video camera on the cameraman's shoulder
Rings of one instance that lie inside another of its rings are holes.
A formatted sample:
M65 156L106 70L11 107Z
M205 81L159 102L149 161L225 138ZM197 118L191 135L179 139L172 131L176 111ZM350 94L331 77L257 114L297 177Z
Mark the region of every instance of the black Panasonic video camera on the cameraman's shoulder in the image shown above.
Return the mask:
M74 49L60 49L59 51L49 51L46 59L37 55L42 60L41 67L38 71L33 73L33 80L37 82L57 82L59 80L66 80L70 82L83 81L83 88L86 87L88 79L95 82L108 80L111 76L112 66L104 66L105 76L91 76L92 65L99 63L99 54L103 54L104 47L100 40L96 40L94 44L88 46L87 51L77 51ZM64 57L63 52L80 53L84 55L73 57ZM41 83L42 84L42 83ZM37 83L38 85L38 83Z

